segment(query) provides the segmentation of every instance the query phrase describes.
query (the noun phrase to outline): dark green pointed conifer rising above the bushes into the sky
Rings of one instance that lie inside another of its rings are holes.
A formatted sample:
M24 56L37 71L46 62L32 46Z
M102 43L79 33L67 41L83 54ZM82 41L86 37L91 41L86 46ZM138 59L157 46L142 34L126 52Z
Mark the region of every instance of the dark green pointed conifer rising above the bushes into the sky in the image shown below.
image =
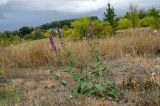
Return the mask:
M114 8L111 7L110 3L108 3L108 7L104 12L104 21L107 21L113 28L115 27L115 11Z

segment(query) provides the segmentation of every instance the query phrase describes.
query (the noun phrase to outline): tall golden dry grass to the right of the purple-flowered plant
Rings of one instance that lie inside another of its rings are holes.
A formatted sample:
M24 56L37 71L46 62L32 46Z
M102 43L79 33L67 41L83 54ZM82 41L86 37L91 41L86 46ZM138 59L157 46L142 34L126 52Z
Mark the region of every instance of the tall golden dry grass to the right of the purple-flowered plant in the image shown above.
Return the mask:
M101 50L104 55L160 55L160 32L152 29L131 29L119 32L116 36L102 39Z

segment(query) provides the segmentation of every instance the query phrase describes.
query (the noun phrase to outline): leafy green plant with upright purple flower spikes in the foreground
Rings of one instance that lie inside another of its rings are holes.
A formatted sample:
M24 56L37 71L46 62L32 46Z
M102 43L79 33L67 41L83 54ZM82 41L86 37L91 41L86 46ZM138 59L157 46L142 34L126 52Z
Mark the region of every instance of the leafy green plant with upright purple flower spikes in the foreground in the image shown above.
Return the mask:
M64 67L64 71L66 73L69 73L72 76L72 79L76 82L75 88L72 89L73 94L75 96L83 94L86 96L101 96L101 97L113 97L117 98L119 96L118 89L115 85L115 82L113 80L109 80L107 78L108 75L108 69L105 61L103 60L103 57L100 53L99 48L99 42L96 40L94 35L94 29L92 25L92 20L90 19L90 30L91 32L88 32L86 29L84 29L84 36L88 42L88 46L90 47L91 52L91 65L86 64L84 59L79 59L78 55L71 54L69 50L64 45L64 42L62 40L62 33L57 28L58 32L58 38L61 43L61 46L63 50L65 51L65 62L63 58L60 56L60 51L57 51L57 48L55 46L53 36L49 37L50 44L52 49L54 50L56 56L61 57L59 58L60 61L63 60L62 66ZM92 39L89 39L91 37ZM45 61L48 64L48 58L45 57ZM76 69L76 70L75 70ZM89 70L89 71L86 71ZM54 76L55 73L52 73ZM58 78L57 80L60 80L60 83L65 86L69 87L69 83L63 79Z

